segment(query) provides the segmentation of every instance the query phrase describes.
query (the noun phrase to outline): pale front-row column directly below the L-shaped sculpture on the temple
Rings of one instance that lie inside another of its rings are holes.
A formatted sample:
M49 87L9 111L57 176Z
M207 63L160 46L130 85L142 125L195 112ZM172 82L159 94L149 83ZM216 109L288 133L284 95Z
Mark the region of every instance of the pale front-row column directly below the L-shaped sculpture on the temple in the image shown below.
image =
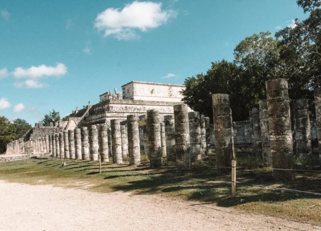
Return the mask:
M123 162L121 150L120 120L110 120L113 163L121 164Z

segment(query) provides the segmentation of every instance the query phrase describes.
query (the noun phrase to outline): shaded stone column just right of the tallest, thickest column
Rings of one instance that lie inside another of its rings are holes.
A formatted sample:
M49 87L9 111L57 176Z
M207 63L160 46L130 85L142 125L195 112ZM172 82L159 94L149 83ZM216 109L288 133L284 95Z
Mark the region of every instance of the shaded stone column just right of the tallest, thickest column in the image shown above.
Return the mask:
M307 99L293 101L294 111L294 152L300 159L312 155L309 105Z

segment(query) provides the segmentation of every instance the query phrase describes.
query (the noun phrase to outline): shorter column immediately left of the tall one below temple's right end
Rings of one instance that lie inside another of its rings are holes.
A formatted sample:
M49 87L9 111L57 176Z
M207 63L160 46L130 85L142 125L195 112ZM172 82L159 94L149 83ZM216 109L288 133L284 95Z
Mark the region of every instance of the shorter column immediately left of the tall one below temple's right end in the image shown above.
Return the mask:
M166 139L166 158L168 161L176 161L174 116L164 116L164 124Z

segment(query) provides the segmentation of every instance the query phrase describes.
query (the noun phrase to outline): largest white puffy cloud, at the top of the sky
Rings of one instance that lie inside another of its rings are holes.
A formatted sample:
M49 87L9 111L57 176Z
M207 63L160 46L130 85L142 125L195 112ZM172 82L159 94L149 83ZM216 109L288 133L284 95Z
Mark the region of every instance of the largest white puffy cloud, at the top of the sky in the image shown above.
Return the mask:
M123 9L108 8L97 15L94 25L98 31L105 31L104 37L111 35L118 40L134 39L138 37L135 29L146 32L177 16L176 11L162 10L161 6L161 3L134 1Z

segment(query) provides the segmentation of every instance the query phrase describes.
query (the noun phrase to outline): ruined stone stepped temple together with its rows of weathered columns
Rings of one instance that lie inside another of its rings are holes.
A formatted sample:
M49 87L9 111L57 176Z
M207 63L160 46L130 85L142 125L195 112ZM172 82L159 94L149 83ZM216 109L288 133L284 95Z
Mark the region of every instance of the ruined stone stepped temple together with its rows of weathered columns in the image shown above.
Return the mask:
M117 164L128 158L131 165L140 164L140 154L145 153L152 168L161 167L167 158L178 169L188 170L215 149L220 174L230 171L235 156L247 153L272 165L273 177L280 180L295 177L294 171L282 170L294 168L294 155L321 158L320 88L315 90L316 120L309 116L307 100L293 102L292 131L286 79L266 82L267 99L260 100L246 121L233 122L229 95L214 94L213 126L208 117L178 101L182 96L175 92L182 87L131 82L122 87L123 96L116 89L115 94L105 93L108 99L100 97L100 103L76 109L69 121L37 123L24 139L9 143L6 153L51 153L92 161L100 157ZM161 97L164 101L152 101Z

